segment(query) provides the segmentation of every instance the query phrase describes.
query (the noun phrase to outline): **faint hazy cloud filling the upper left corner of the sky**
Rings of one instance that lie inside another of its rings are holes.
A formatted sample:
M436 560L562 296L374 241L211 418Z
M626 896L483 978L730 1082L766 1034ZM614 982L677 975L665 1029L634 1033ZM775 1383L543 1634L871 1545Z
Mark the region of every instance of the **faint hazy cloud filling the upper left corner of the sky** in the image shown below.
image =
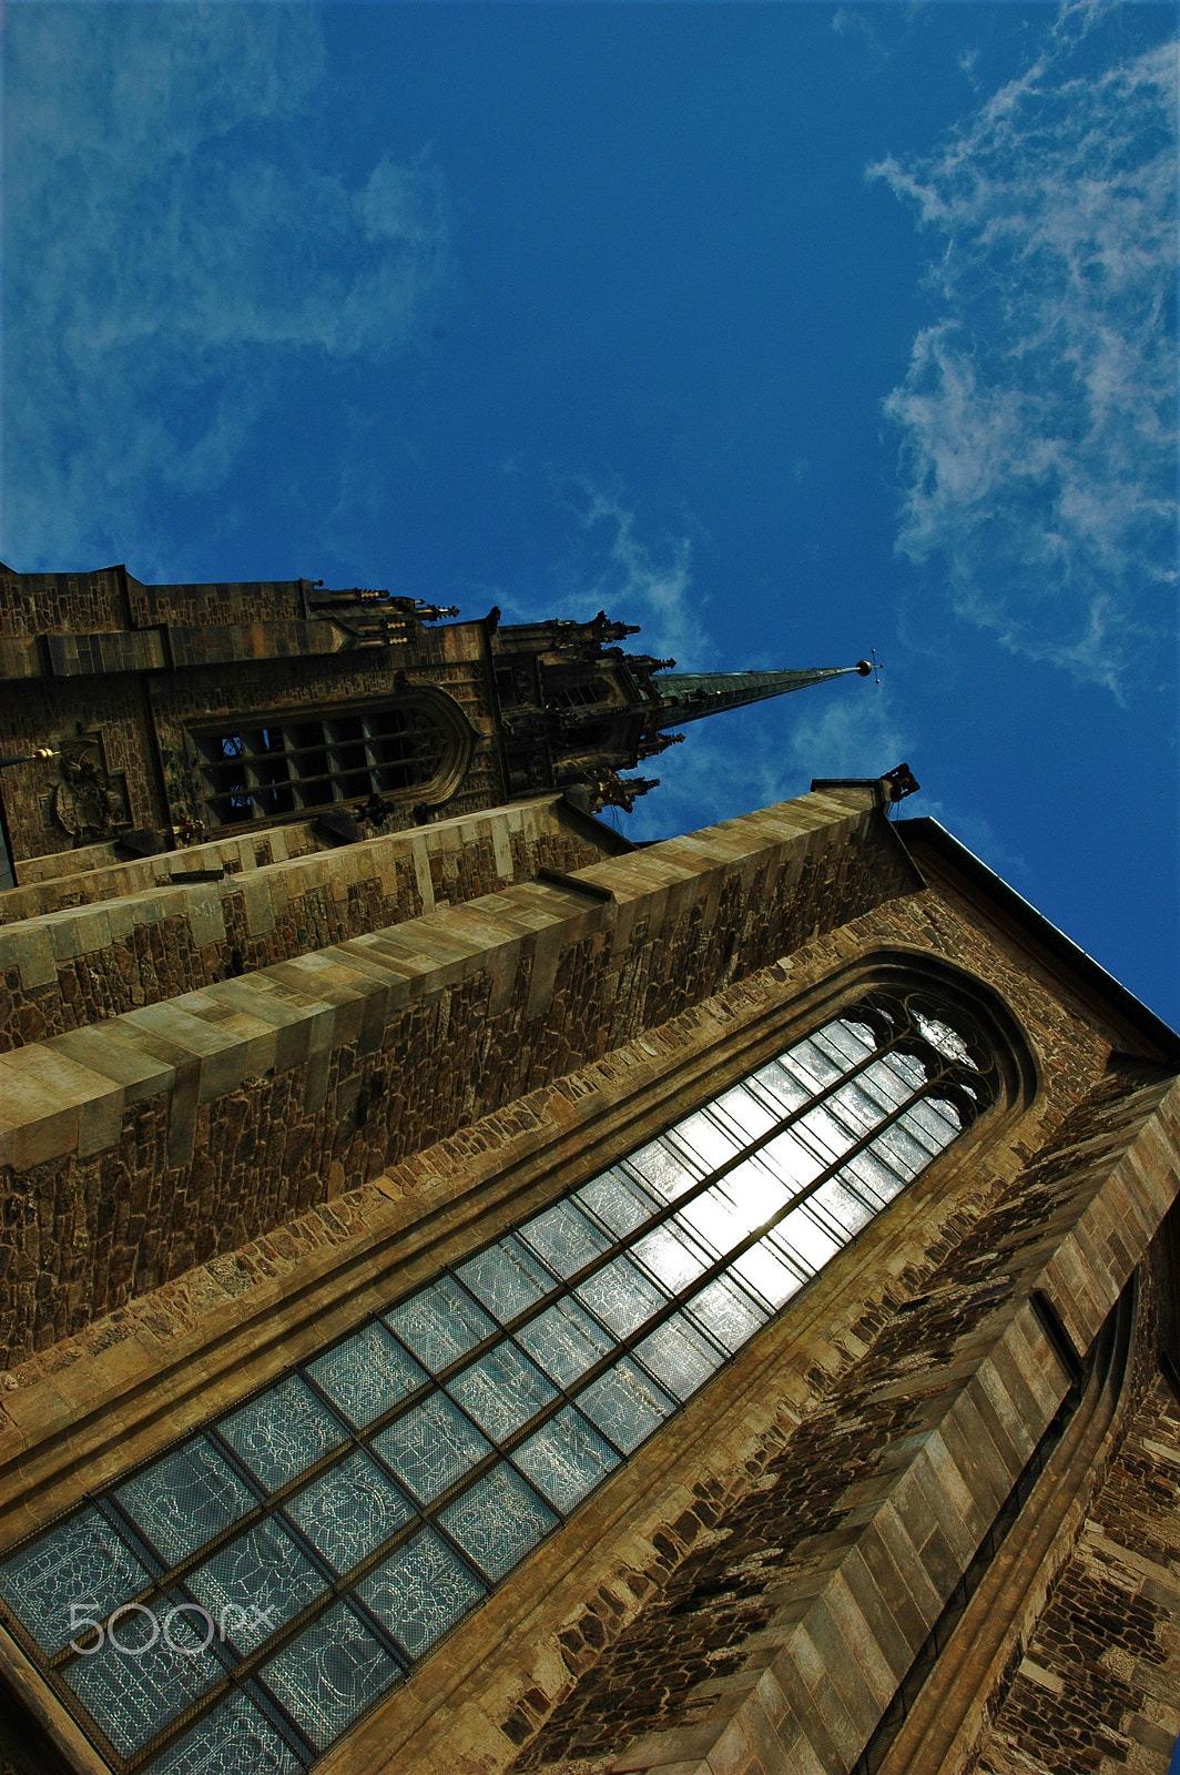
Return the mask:
M447 272L428 158L316 163L316 12L9 7L4 550L158 566L300 355L397 350Z

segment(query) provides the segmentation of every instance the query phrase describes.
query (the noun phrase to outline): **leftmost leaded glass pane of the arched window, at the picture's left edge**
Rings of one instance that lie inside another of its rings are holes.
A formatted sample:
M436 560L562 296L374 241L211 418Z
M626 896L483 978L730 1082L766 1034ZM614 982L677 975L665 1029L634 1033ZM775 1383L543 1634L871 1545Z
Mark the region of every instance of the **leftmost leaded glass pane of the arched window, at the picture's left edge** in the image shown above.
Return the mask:
M101 1619L149 1583L147 1569L98 1511L85 1509L51 1528L0 1567L0 1596L46 1653L78 1633L75 1621Z

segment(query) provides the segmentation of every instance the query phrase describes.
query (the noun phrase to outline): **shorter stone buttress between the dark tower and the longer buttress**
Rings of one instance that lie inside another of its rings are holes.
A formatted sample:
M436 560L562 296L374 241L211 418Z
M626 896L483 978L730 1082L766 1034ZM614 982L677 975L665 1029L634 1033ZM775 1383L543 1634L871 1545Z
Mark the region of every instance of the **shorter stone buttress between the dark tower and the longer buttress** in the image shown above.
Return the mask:
M302 852L284 856L287 832ZM138 893L0 925L0 1053L603 856L589 822L564 815L562 824L559 797L341 850L312 847L300 825L169 852L101 872L117 879L135 868L151 880L154 866L160 879ZM222 880L172 879L211 866L225 870ZM89 886L83 879L82 891ZM57 896L18 888L2 900Z

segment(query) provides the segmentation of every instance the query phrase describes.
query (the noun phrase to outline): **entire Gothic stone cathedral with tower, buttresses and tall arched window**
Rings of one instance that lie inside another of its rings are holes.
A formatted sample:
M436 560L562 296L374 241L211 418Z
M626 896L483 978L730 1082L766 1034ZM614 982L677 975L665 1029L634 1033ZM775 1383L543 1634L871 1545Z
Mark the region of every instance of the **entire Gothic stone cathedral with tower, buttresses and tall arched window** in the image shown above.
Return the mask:
M0 568L0 1775L1166 1775L1180 1038L456 616Z

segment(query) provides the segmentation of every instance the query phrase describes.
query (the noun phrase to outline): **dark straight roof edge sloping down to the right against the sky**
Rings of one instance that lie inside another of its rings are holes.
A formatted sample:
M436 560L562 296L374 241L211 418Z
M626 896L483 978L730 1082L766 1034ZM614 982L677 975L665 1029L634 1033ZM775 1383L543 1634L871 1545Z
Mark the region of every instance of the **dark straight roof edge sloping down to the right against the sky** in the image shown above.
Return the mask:
M1121 1024L1127 1033L1139 1038L1145 1058L1160 1060L1164 1065L1180 1069L1180 1035L1157 1017L1153 1010L1137 999L1114 974L1109 974L1093 955L1079 948L1066 937L1043 912L1038 912L1024 895L1010 888L1008 882L981 863L974 850L969 850L939 820L916 816L894 820L893 829L914 857L914 850L926 852L928 859L942 864L949 875L958 875L967 888L985 895L1015 925L1019 932L1031 937L1034 944L1052 960L1065 964L1082 992L1105 1010L1107 1021ZM914 857L914 863L919 859Z

